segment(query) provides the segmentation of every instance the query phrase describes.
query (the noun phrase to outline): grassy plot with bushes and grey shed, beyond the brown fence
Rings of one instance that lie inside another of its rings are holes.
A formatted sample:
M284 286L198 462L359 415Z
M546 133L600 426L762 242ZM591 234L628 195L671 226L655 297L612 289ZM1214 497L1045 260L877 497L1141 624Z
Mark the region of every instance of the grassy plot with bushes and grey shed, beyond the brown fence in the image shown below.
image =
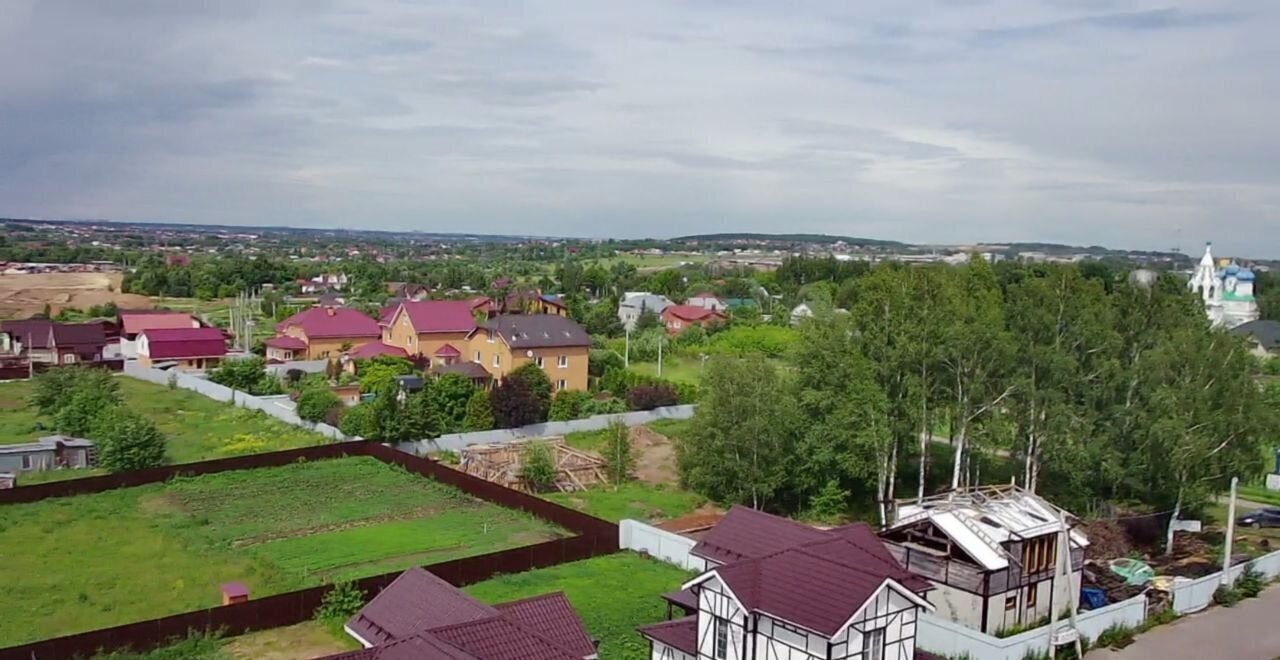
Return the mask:
M116 380L125 405L160 427L169 441L168 454L173 463L227 458L241 453L279 452L328 441L319 434L189 390L169 389L128 376L116 376ZM27 404L31 390L29 381L0 382L0 444L27 443L52 432L52 422L40 417ZM44 422L45 430L36 428L36 422ZM58 476L78 477L90 473L74 471Z

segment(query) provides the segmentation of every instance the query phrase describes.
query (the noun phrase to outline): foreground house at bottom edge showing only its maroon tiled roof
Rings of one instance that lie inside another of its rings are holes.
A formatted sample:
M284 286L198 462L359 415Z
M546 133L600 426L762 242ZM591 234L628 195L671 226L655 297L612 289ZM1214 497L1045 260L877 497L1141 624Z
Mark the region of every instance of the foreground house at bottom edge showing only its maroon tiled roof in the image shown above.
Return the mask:
M324 660L595 660L561 592L485 605L422 568L401 573L343 627L365 648Z

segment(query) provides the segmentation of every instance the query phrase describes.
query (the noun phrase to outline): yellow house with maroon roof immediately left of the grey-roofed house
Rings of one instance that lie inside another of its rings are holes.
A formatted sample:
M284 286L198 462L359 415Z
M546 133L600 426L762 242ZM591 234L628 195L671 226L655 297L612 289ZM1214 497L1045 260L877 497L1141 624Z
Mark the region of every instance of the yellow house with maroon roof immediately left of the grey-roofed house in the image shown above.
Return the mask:
M462 354L458 347L466 347L475 329L476 320L465 301L404 301L383 325L381 340L411 357L443 365Z

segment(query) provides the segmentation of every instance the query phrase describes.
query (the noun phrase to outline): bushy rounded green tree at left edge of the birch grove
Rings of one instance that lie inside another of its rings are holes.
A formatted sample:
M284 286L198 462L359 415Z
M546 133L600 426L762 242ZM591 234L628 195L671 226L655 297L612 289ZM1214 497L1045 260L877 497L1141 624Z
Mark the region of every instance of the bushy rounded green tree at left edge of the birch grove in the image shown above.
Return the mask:
M691 431L677 440L685 487L726 504L763 508L787 485L795 399L763 358L714 357Z

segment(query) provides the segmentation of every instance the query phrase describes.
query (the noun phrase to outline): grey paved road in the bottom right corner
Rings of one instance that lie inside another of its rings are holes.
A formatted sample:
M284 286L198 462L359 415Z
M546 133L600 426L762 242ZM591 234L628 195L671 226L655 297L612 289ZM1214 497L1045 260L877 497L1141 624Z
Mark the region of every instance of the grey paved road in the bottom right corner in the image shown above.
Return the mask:
M1210 608L1139 634L1128 648L1102 648L1085 660L1272 660L1280 657L1280 588L1272 587L1234 608Z

